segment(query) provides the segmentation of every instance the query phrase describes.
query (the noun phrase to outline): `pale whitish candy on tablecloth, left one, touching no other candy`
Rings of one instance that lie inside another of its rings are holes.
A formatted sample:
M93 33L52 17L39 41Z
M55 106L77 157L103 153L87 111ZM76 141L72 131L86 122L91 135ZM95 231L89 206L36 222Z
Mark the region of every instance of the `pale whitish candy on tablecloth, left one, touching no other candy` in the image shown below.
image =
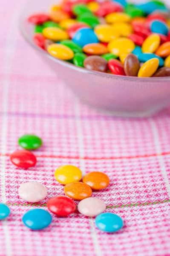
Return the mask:
M26 182L19 187L18 195L24 201L37 203L46 198L47 189L38 182Z

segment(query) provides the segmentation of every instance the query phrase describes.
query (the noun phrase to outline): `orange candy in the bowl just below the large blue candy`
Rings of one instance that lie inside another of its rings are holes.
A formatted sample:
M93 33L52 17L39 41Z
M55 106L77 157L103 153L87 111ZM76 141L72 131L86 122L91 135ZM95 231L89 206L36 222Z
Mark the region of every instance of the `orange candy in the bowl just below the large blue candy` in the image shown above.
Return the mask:
M87 54L102 55L107 53L108 49L104 44L92 43L92 44L86 44L83 47L83 51Z

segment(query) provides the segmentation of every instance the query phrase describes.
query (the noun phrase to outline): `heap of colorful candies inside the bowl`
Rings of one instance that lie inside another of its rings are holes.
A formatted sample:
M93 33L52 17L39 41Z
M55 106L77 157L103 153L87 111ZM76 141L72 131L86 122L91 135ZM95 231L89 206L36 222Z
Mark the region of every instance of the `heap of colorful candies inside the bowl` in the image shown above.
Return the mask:
M33 41L78 67L122 76L170 76L170 10L160 0L63 0L28 17Z

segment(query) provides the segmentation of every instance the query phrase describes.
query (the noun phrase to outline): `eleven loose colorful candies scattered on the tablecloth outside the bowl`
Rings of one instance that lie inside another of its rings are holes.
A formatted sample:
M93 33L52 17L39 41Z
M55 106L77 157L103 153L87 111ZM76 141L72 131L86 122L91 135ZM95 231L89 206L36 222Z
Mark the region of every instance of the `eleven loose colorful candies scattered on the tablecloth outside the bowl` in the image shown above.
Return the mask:
M35 135L24 135L18 141L24 150L17 150L11 154L11 162L20 168L35 166L37 159L29 151L39 148L42 140ZM95 224L98 229L105 232L115 232L123 227L122 219L113 213L104 212L106 205L101 199L92 197L92 190L104 189L109 185L109 177L102 172L87 173L82 182L81 170L76 166L60 166L55 171L55 179L65 185L63 192L68 196L56 196L50 198L47 207L50 212L57 216L68 216L75 212L76 205L71 199L81 201L78 204L78 211L85 216L95 217ZM23 183L18 189L18 195L24 201L37 203L47 196L47 189L38 182ZM10 209L6 204L0 203L0 219L8 217ZM48 227L52 222L52 216L44 209L32 209L27 211L22 218L23 223L32 230L41 230Z

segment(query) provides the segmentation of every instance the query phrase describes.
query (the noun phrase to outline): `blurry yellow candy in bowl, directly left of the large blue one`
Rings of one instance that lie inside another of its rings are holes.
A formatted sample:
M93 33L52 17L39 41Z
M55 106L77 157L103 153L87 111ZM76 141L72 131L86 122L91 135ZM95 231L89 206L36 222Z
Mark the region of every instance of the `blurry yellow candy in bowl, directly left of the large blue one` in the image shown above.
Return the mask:
M61 41L69 38L69 35L63 29L49 27L43 29L43 35L53 41Z

